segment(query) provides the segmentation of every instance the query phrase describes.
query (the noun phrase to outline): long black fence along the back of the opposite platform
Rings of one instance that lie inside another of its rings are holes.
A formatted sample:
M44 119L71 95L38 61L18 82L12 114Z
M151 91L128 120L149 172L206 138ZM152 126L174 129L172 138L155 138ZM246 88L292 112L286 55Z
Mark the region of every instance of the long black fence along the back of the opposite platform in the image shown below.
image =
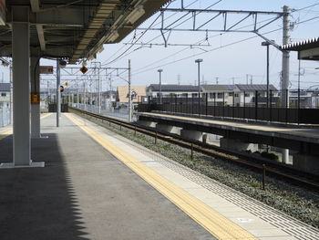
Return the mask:
M257 97L256 97L257 96ZM185 114L207 115L213 117L233 118L242 120L264 120L284 123L319 123L318 109L302 109L302 108L283 108L278 107L279 98L271 97L258 98L258 94L252 98L252 102L238 103L235 101L233 105L226 103L225 99L217 102L216 99L209 101L208 95L203 94L199 98L182 98L170 96L167 98L149 98L147 103L139 103L138 111L166 111ZM264 102L266 99L266 102ZM267 107L268 105L268 107ZM299 105L300 106L300 105Z

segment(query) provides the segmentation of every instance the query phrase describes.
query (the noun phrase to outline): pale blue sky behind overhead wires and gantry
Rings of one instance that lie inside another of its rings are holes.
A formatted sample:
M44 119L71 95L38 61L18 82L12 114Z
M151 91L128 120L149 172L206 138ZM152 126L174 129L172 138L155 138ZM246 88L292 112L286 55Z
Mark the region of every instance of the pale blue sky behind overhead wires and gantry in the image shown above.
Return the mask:
M316 0L184 0L184 5L189 5L189 8L207 8L213 5L211 9L229 9L229 10L259 10L259 11L275 11L282 12L283 5L289 5L293 9L290 17L294 26L291 29L290 41L300 41L311 37L319 37L318 22L319 18L312 21L305 20L319 16L319 1ZM317 4L317 5L316 5ZM304 8L309 5L312 7ZM180 0L173 1L170 8L180 7ZM301 9L304 8L304 9ZM301 10L299 10L301 9ZM148 28L157 19L159 14L151 16L145 21L140 28ZM171 13L165 13L166 25L174 22L182 14L172 16ZM208 19L211 14L200 14L196 16L197 26L201 25ZM229 15L228 26L232 26L236 20L241 19L243 15ZM266 19L272 19L273 16L259 16L259 25ZM160 17L156 20L153 26L160 26ZM186 18L185 18L186 19ZM235 26L233 29L251 29L253 19L248 17L242 24ZM179 27L191 28L191 20L185 22ZM211 21L210 24L203 27L203 29L221 29L222 17L217 17L216 20ZM247 26L247 27L243 27ZM278 45L282 45L283 31L282 18L274 21L269 26L260 30L260 33L269 39L274 40ZM267 33L271 32L272 33ZM201 63L201 83L206 84L232 84L232 83L246 83L246 76L249 75L249 82L254 84L266 83L266 47L262 47L263 39L257 37L253 33L224 33L224 32L181 32L171 31L168 43L170 45L194 45L201 42L202 47L190 46L154 46L154 44L163 44L163 38L160 36L160 31L147 31L142 37L142 31L134 31L128 37L124 38L121 43L110 44L104 46L104 51L98 54L94 61L101 62L103 67L126 68L128 67L128 60L131 59L132 65L132 85L135 86L149 86L152 83L159 83L158 69L162 68L162 82L167 84L192 84L197 81L197 65L195 59L202 58ZM168 36L169 33L166 34ZM135 37L135 38L134 38ZM140 37L140 38L139 38ZM250 38L250 39L249 39ZM138 40L139 39L139 40ZM138 40L138 41L137 41ZM137 41L137 44L132 46L125 43ZM146 43L153 44L151 47L145 45ZM138 45L139 44L139 45ZM144 44L142 46L141 44ZM130 47L130 48L129 48ZM128 50L129 48L129 50ZM122 57L119 57L123 55ZM42 65L53 65L54 61L42 60ZM87 63L90 67L90 63ZM318 62L302 61L301 62L301 86L308 89L314 85L319 85L318 77L319 70ZM282 68L282 53L275 47L270 47L270 83L274 87L280 88L280 72ZM7 71L1 67L1 71L5 72L7 78ZM103 89L109 88L109 79L104 76ZM123 78L127 79L128 74L121 74L121 78L117 76L112 77L112 85L120 86L127 83ZM43 79L52 78L52 76L42 76ZM71 77L63 77L67 80ZM290 57L290 88L296 89L298 83L298 60L297 55L291 52ZM197 83L196 83L197 84Z

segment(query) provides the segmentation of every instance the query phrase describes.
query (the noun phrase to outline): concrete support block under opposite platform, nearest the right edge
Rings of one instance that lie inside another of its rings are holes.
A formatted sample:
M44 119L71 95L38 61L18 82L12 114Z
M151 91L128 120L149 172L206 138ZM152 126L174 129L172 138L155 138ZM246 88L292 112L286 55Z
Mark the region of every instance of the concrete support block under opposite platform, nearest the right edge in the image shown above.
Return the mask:
M293 168L319 176L319 156L293 154Z

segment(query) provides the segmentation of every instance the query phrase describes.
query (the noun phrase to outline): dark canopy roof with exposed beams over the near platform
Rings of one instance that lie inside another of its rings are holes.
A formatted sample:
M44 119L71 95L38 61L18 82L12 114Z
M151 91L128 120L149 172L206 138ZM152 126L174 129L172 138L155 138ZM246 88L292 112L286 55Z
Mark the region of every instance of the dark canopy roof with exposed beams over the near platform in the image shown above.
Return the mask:
M11 57L16 7L29 7L31 55L93 59L118 43L169 0L0 0L0 56Z

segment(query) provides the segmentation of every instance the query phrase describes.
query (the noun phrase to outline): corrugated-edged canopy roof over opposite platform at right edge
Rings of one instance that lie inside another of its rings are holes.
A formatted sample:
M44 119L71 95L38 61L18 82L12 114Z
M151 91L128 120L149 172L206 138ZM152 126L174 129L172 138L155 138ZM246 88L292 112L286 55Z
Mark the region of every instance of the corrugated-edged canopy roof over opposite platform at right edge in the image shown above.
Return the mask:
M281 48L286 51L298 51L300 60L319 60L319 37L283 45Z

